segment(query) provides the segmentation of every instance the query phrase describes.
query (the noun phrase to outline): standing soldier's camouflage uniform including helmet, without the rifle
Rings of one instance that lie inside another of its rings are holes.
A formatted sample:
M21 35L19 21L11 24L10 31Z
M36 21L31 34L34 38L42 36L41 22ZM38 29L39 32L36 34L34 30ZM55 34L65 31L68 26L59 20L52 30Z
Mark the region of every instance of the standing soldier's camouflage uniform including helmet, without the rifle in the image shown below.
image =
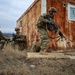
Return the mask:
M51 9L49 9L49 12L53 13L53 12L56 12L56 10L55 10L55 8L51 8ZM39 41L37 43L37 46L41 47L41 50L46 50L46 47L50 41L50 36L48 35L47 30L49 30L49 31L53 30L52 25L54 25L54 24L52 24L52 22L53 22L53 20L50 17L50 15L44 13L39 17L38 22L36 24L37 31L38 31L40 39L41 39L41 41ZM54 29L56 29L56 31L55 31L55 33L56 33L58 31L58 27L55 25L53 27L54 27Z

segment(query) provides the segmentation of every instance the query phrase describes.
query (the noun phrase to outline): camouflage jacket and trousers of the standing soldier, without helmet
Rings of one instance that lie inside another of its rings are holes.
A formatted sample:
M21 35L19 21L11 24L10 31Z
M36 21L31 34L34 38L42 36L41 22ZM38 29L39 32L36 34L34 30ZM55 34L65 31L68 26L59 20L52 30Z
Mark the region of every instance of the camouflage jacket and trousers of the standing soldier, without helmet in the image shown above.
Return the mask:
M50 28L50 25L48 25L48 22L50 21L50 17L48 14L43 14L39 17L39 20L36 24L37 30L40 36L41 41L37 43L37 46L41 46L41 50L45 50L48 43L49 43L49 35L47 33L47 28ZM37 50L37 49L36 49ZM40 50L39 50L40 51Z

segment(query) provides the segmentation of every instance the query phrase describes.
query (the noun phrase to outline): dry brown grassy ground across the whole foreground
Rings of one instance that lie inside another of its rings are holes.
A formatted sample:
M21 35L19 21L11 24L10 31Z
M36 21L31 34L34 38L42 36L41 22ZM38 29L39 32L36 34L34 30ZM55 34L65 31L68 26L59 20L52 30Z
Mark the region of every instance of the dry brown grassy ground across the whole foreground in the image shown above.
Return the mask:
M27 54L10 44L0 50L0 75L75 75L75 59L28 58Z

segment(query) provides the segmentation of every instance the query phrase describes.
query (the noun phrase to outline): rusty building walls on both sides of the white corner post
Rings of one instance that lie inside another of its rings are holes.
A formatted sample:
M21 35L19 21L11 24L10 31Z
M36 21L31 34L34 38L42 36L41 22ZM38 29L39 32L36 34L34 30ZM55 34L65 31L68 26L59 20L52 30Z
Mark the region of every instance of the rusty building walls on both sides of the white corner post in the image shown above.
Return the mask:
M66 4L64 7L63 4ZM66 40L50 39L49 46L53 49L73 49L75 48L75 21L68 20L68 3L74 4L74 0L47 0L47 12L50 7L56 7L58 10L54 17L55 23L60 26L61 32L65 35ZM22 33L27 36L28 46L38 38L36 30L36 22L41 14L41 0L35 0L34 4L17 20L17 25L20 25L22 19ZM50 36L55 37L57 34L49 33Z

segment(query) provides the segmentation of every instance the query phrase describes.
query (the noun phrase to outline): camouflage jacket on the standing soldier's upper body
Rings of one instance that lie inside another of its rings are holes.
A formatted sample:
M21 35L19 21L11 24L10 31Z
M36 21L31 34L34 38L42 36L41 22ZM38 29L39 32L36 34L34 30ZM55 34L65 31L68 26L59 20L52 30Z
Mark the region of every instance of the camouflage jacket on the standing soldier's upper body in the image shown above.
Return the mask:
M45 30L46 30L46 26L47 26L47 29L51 30L53 22L54 21L52 20L52 18L48 14L44 13L43 15L41 15L39 17L38 22L37 22L36 25L37 25L38 28L43 28ZM54 27L56 29L58 29L57 26L54 25Z

